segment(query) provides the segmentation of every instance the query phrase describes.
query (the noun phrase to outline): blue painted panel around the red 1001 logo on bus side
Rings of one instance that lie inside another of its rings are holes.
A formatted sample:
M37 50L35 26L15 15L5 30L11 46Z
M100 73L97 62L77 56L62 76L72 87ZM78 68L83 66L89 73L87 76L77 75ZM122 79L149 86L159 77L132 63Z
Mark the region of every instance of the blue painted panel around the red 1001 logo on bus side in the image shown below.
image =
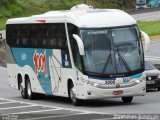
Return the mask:
M37 74L37 79L39 80L39 83L44 90L46 94L52 94L52 86L51 86L51 79L50 79L50 72L49 72L49 56L52 55L51 49L34 49L34 48L12 48L13 56L15 58L15 61L17 65L20 67L24 67L25 65L28 65L32 68L32 70ZM36 57L37 60L40 56L46 55L46 61L45 65L42 68L39 64L39 66L35 66L34 59ZM36 56L37 55L37 56ZM35 57L35 58L34 58ZM39 71L38 71L39 68ZM42 69L42 70L40 70ZM46 69L46 71L44 71ZM36 73L37 70L37 73Z

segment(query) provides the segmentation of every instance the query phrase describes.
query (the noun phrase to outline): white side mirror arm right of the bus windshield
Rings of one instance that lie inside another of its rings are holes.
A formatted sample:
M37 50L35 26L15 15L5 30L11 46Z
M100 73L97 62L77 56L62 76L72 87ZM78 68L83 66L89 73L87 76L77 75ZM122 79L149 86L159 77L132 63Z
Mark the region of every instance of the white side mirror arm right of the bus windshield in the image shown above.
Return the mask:
M149 44L150 44L151 40L150 40L149 36L145 32L141 31L141 35L144 38L144 48L145 48L145 51L148 52L149 51L148 47L149 47Z

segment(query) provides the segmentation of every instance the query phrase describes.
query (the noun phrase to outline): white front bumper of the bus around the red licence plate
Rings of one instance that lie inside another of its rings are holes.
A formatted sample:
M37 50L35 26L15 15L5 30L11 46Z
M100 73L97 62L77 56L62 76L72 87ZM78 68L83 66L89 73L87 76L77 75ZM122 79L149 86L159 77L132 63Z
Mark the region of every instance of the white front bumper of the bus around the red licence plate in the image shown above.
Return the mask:
M126 88L114 88L114 89L101 89L91 85L85 84L85 95L80 99L105 99L115 98L124 96L143 96L146 93L146 81L143 80L141 83L126 87ZM123 93L114 95L115 91L123 91Z

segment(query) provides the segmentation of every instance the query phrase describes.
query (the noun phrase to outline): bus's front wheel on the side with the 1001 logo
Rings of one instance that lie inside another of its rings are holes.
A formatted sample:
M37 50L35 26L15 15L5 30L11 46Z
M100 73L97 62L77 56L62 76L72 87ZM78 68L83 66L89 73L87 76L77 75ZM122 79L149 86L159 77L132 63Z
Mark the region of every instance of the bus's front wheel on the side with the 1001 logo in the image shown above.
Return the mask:
M72 84L71 87L70 87L69 97L70 97L71 102L72 102L72 104L73 104L74 106L80 105L80 100L77 99L77 97L76 97L75 87L74 87L73 84Z

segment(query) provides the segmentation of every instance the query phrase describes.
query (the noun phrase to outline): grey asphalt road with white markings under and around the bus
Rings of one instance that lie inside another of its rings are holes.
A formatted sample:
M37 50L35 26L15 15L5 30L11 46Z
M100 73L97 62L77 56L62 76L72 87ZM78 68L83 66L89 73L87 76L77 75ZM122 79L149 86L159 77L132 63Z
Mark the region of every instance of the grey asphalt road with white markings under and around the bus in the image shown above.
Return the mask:
M136 20L160 19L159 12L135 14ZM160 40L152 40L147 59L160 62ZM0 115L13 113L21 120L107 120L115 114L160 114L160 92L150 90L145 96L134 97L131 104L120 98L86 101L74 107L67 98L46 96L39 100L24 100L19 91L9 88L7 71L0 68ZM158 118L160 119L160 117ZM158 120L156 119L156 120Z

